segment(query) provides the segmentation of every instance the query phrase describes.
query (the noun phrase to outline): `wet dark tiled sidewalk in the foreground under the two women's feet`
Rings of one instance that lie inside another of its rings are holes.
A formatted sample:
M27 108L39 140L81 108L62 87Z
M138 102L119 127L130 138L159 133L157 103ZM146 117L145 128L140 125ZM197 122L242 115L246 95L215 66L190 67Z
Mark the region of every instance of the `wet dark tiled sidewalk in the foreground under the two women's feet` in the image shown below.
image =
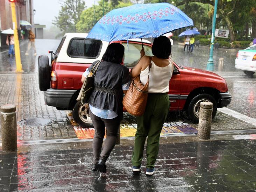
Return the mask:
M256 137L244 138L254 139L162 142L153 176L145 155L132 172L133 141L116 145L102 175L90 169L91 142L19 145L0 152L0 191L255 191Z

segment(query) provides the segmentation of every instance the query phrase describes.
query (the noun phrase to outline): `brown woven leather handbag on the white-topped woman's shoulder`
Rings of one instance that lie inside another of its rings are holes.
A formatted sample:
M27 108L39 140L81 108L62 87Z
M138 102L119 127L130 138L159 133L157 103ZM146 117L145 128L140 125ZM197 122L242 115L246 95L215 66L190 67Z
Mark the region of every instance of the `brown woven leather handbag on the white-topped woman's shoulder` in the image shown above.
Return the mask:
M123 106L128 113L134 116L144 114L148 100L149 72L151 68L151 57L148 68L148 81L145 85L141 83L140 75L131 80L129 89L123 98Z

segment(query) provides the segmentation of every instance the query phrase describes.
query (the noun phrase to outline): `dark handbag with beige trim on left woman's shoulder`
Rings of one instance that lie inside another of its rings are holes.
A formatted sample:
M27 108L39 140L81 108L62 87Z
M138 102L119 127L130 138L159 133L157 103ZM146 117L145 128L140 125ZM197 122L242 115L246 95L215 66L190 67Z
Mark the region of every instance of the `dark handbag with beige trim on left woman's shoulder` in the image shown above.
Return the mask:
M94 76L96 74L96 71L97 71L100 63L101 63L101 61L98 61L97 63L95 63L95 65L92 67L90 73L87 75L87 77L81 87L81 90L77 97L77 101L80 101L80 105L87 103L87 101L94 89Z

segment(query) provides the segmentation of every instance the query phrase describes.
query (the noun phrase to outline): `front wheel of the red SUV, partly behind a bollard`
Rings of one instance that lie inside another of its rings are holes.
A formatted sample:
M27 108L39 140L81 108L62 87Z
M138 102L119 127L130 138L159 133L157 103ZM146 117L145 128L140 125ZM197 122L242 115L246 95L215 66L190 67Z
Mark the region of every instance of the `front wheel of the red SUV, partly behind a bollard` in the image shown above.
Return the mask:
M216 112L217 112L217 103L216 103L215 99L209 94L205 94L205 93L199 94L191 100L189 107L186 111L189 118L195 123L198 123L198 121L199 121L199 109L200 109L201 102L212 102L213 103L212 118L214 118L214 116L216 115Z

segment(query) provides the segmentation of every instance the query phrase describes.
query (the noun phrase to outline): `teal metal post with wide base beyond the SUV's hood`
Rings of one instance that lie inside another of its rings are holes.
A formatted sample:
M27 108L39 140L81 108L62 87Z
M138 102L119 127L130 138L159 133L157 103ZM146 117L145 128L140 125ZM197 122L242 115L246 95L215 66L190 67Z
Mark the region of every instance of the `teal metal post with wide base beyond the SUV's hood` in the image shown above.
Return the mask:
M213 13L213 21L212 21L212 40L211 40L211 45L210 45L210 56L209 56L209 60L207 62L207 66L206 66L206 70L208 70L208 71L213 71L214 70L213 44L214 44L214 37L215 37L217 6L218 6L218 0L215 0L215 3L214 3L214 13Z

